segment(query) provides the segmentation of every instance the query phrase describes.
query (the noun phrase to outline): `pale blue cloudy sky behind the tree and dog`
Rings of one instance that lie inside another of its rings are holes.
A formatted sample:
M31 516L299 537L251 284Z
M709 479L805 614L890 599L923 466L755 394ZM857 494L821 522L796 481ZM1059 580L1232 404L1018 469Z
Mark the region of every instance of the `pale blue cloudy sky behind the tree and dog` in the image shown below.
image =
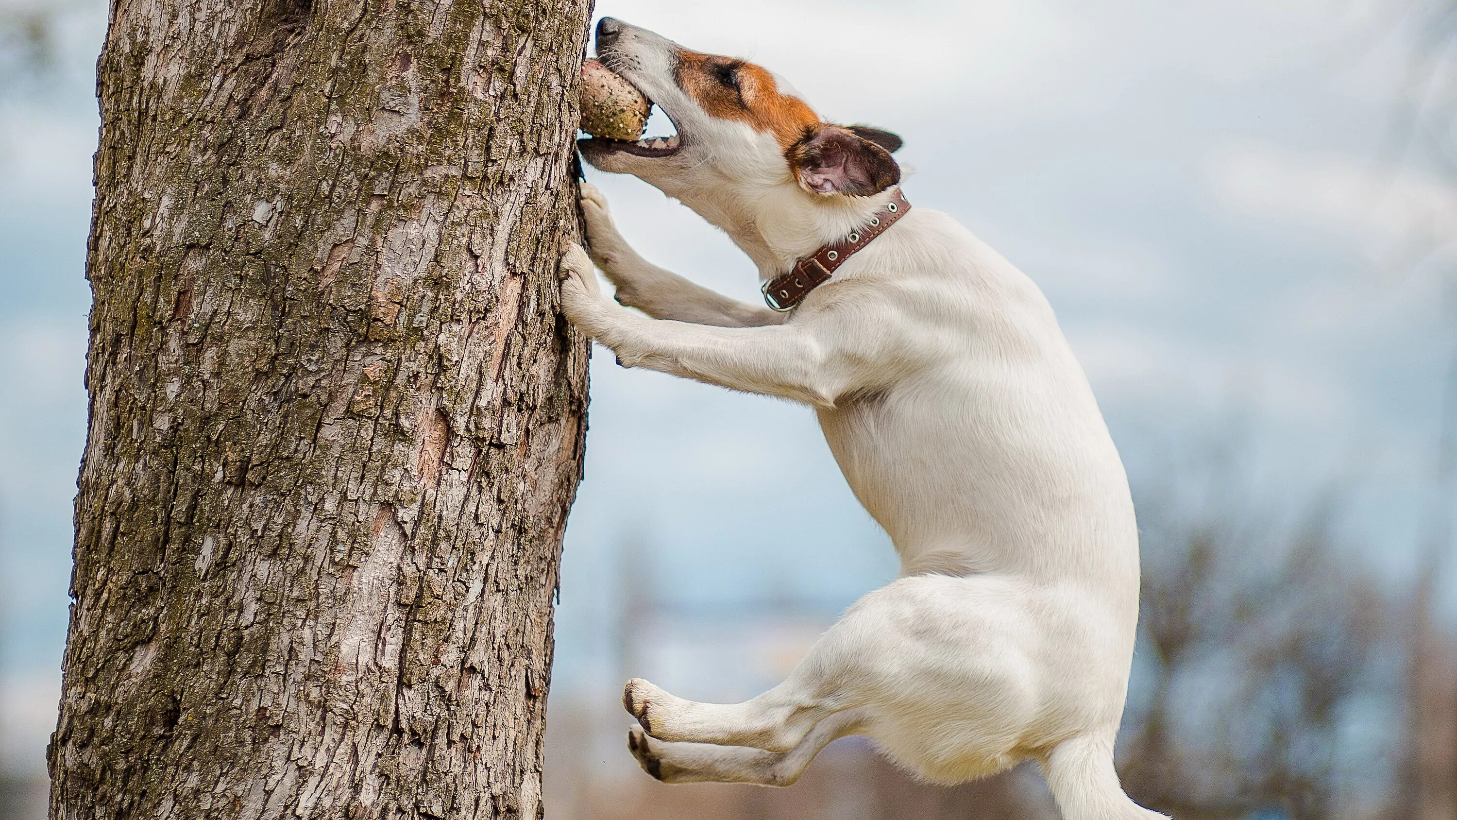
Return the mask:
M1393 581L1432 510L1457 186L1402 150L1413 32L1333 0L602 0L599 15L755 60L826 118L905 138L906 195L1048 293L1135 488L1237 437L1253 492L1332 484ZM66 17L44 90L0 95L0 765L54 725L86 396L105 9ZM656 189L592 175L654 262L745 300L749 261ZM596 692L624 545L653 594L833 613L895 575L810 411L593 360L586 479L567 530L554 687ZM769 435L769 431L794 431ZM785 519L771 501L806 500ZM692 695L685 693L685 695Z

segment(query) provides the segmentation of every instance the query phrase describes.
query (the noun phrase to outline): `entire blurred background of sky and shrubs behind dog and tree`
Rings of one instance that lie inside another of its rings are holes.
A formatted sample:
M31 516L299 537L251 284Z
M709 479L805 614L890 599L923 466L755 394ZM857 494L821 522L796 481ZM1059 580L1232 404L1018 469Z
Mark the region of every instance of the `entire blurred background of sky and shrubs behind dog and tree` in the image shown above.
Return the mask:
M1119 741L1136 800L1183 820L1457 819L1457 0L597 12L900 133L909 198L1046 290L1144 530ZM101 0L0 0L7 820L44 817L60 687L105 16ZM635 179L593 181L645 256L758 299L723 234ZM610 354L592 377L548 817L1053 817L1030 772L918 787L855 738L788 789L638 772L622 680L755 695L896 561L807 409ZM774 516L790 485L810 502Z

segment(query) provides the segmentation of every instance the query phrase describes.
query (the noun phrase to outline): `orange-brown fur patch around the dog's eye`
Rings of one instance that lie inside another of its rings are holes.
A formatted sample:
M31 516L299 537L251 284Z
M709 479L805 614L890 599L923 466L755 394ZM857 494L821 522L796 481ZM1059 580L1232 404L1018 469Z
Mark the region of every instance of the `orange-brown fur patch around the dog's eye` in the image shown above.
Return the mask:
M679 51L676 80L710 117L774 134L785 151L820 121L804 100L781 93L774 74L733 57Z

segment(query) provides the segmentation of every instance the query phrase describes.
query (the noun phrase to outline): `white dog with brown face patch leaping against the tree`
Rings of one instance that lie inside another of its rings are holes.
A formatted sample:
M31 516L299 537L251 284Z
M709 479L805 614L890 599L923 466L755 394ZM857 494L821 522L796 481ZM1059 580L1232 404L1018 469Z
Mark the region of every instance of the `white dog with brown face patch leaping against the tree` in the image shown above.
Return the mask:
M622 366L814 408L900 556L898 580L758 698L628 682L632 754L664 782L788 785L863 734L928 782L1032 759L1069 820L1163 817L1113 768L1138 619L1128 478L1042 291L949 216L909 208L899 137L823 122L768 70L621 20L596 44L678 137L589 137L581 156L727 232L772 306L647 262L583 184L589 251L561 261L565 316ZM832 265L807 293L779 288Z

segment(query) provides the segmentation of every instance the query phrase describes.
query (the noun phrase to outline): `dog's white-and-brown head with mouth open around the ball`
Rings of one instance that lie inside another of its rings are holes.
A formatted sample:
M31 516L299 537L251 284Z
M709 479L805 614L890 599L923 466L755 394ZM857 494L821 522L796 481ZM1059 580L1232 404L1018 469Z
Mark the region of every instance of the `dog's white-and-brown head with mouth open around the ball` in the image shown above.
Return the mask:
M900 137L833 125L768 70L689 51L647 29L603 17L597 58L656 102L676 138L580 141L593 166L632 173L721 224L774 191L835 204L900 181Z

